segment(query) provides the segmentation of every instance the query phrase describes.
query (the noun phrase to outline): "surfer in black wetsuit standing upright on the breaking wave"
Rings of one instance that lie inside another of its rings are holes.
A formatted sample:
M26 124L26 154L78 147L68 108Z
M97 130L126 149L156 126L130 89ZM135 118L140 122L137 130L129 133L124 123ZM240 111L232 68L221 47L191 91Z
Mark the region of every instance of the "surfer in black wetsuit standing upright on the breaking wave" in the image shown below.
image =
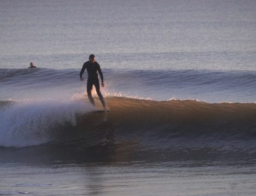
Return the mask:
M81 72L80 72L80 80L83 81L84 79L82 78L82 74L84 72L84 70L87 70L88 73L88 78L87 78L87 95L88 98L90 100L90 102L95 105L94 103L94 99L92 97L92 90L93 90L93 85L95 86L96 92L99 96L100 102L102 103L102 106L104 108L104 110L106 111L106 105L105 105L105 101L104 98L100 92L100 85L99 85L99 77L98 77L98 73L100 75L100 79L101 79L101 86L104 87L104 81L103 81L103 74L101 72L99 63L96 61L96 58L94 56L94 54L91 54L89 56L89 61L86 61L83 63Z

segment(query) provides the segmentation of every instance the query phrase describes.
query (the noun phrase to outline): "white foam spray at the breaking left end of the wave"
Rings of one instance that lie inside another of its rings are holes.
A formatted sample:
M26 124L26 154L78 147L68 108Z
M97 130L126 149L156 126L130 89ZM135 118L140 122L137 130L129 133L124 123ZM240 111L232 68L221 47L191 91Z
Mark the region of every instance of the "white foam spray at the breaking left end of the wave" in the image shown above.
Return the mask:
M76 125L76 114L93 110L84 100L26 101L1 109L0 146L24 147L51 141L51 132L59 125Z

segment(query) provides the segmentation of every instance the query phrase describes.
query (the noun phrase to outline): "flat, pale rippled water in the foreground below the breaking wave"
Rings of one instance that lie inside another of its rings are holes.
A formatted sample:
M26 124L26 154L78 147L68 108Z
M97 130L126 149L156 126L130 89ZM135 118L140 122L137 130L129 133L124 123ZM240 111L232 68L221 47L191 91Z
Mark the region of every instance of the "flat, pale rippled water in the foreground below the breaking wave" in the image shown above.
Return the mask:
M224 162L2 164L0 194L253 195L255 165Z

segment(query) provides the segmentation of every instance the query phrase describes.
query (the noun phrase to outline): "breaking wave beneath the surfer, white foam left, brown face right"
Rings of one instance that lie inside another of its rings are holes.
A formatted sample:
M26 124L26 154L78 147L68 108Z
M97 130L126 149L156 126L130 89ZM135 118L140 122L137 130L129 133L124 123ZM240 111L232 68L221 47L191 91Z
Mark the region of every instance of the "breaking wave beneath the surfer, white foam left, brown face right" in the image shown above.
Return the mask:
M96 100L99 103L98 100ZM1 102L0 145L80 141L82 146L137 142L153 149L256 150L256 104L106 98L108 113L88 100Z

